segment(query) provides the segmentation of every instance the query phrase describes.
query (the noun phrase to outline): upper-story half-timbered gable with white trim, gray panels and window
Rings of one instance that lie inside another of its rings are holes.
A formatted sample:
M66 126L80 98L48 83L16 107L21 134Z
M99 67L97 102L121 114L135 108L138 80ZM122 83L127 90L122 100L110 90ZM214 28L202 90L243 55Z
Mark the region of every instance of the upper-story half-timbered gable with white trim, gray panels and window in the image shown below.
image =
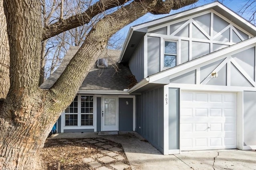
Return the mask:
M222 4L202 7L132 28L120 61L129 64L138 82L256 35L254 25Z

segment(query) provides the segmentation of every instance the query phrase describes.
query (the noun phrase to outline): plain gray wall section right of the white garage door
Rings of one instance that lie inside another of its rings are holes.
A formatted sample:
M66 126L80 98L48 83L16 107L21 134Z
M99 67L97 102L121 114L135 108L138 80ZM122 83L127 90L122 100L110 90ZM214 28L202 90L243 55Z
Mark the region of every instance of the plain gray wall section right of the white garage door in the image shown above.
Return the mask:
M244 146L256 145L256 92L244 92Z

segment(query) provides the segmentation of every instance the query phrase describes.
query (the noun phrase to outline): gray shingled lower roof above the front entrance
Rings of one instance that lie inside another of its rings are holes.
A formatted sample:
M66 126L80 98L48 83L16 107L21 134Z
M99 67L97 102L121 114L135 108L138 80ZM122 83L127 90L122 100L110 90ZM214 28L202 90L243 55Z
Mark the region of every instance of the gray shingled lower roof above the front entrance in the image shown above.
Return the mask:
M50 75L47 80L44 81L40 88L48 89L56 82L78 49L79 47L70 47L60 66ZM105 49L99 58L108 59L108 67L97 68L93 66L79 89L120 91L127 89L131 83L130 77L132 76L132 73L127 66L117 63L120 53L120 50Z

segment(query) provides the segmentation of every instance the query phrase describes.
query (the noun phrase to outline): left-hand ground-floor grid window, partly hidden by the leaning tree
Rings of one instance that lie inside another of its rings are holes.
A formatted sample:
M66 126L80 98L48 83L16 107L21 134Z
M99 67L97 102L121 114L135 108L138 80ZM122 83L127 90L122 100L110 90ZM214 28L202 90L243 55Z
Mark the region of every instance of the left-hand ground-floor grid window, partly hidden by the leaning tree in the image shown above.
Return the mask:
M68 114L67 114L68 113ZM65 126L78 125L78 96L74 101L65 109Z

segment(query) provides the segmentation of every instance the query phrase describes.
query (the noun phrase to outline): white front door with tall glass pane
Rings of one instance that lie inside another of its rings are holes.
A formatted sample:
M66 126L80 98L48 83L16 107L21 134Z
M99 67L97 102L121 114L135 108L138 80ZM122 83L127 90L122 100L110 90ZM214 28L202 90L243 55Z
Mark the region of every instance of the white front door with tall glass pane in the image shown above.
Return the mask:
M118 131L117 97L102 97L102 131Z

